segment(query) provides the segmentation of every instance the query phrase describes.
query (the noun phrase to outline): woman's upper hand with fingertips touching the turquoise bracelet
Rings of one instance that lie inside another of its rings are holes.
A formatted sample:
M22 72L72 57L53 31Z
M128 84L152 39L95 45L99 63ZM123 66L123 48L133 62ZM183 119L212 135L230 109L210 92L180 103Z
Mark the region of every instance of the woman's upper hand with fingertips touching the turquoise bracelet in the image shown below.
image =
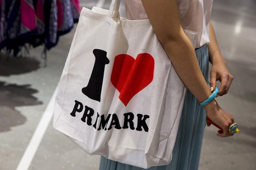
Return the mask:
M226 67L226 62L224 60L219 62L213 62L212 68L210 72L210 86L211 91L216 87L216 81L221 82L221 86L219 89L219 96L227 94L229 91L229 87L234 79L234 77L230 74L229 70Z

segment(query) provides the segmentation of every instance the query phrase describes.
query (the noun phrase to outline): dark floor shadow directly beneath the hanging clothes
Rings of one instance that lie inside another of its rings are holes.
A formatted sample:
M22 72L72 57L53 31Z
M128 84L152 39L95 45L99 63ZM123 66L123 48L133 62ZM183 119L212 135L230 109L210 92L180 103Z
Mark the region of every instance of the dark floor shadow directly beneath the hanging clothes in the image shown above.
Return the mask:
M24 74L39 68L40 62L32 57L8 57L4 53L0 54L0 76Z

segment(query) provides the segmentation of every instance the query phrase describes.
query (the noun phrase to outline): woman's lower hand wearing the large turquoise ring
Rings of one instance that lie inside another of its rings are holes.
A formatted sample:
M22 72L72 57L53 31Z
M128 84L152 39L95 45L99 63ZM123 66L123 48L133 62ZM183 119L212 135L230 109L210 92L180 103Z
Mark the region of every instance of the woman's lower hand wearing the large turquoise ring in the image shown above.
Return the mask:
M212 100L204 108L206 110L207 117L209 117L212 120L212 122L214 122L223 129L223 132L221 130L218 131L217 136L233 136L232 134L229 134L229 126L234 123L233 116L231 116L229 113L220 108L215 100ZM207 126L209 126L209 123L207 123Z

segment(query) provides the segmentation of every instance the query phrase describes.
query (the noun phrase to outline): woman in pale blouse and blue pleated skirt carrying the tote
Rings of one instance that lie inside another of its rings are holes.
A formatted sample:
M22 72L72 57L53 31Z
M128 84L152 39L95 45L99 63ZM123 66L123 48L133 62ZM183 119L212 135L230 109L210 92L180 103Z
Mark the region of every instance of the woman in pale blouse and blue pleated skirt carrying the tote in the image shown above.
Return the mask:
M198 105L198 101L202 102L212 94L217 80L221 82L219 96L228 93L233 80L210 23L212 0L127 0L125 3L128 19L149 19L175 70L189 89L171 163L149 169L198 169L206 116L223 129L218 131L219 137L232 136L229 126L234 123L233 117L222 110L214 99L204 108ZM183 28L198 33L196 50ZM212 63L210 89L206 82L209 61ZM139 169L101 157L100 170Z

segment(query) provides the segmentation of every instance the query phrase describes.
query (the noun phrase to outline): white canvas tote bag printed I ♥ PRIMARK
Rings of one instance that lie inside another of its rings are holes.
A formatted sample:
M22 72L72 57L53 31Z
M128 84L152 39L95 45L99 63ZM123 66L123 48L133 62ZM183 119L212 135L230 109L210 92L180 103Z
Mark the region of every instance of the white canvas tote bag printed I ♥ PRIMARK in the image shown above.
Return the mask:
M88 154L141 168L166 165L185 87L149 20L120 18L119 5L113 0L109 10L82 9L53 127Z

